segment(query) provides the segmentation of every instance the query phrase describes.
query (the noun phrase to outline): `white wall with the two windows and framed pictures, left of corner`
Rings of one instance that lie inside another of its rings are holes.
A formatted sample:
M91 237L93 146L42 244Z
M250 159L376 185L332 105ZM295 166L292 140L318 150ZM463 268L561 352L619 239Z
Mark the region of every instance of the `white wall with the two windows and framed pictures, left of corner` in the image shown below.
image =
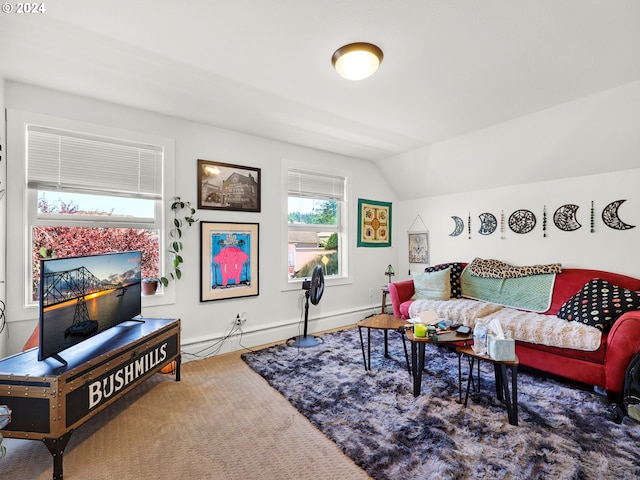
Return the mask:
M199 301L199 227L186 232L183 278L169 288L175 289L176 302L171 305L144 307L148 317L182 319L183 349L199 351L222 337L231 327L237 313L246 312L242 346L255 346L298 335L302 318L302 290L282 291L279 275L281 249L286 245L281 225L286 212L281 206L281 163L300 162L309 168L354 173L351 187L351 243L356 241L356 206L358 198L394 201L386 180L374 164L319 150L243 135L177 118L101 101L62 94L14 82L5 86L8 109L55 115L175 139L176 194L197 201L197 160L207 159L262 169L262 211L260 213L199 210L204 221L258 222L260 224L260 294L232 300L201 303ZM21 162L22 159L10 158ZM381 192L384 192L381 194ZM9 208L11 206L9 205ZM9 225L9 228L16 227ZM20 228L20 226L17 226ZM392 248L355 248L350 259L353 282L328 286L318 306L311 306L309 332L355 323L372 313L379 305L379 286L385 283L384 268L397 257ZM11 264L12 265L12 264ZM8 265L10 270L12 267ZM7 272L11 276L11 271ZM370 290L374 289L374 298ZM20 302L18 289L8 292L8 303ZM14 303L15 305L15 303ZM11 309L9 309L11 312ZM9 353L19 351L36 325L37 311L28 320L9 318ZM240 348L239 339L225 342L221 351ZM186 358L187 360L189 358Z

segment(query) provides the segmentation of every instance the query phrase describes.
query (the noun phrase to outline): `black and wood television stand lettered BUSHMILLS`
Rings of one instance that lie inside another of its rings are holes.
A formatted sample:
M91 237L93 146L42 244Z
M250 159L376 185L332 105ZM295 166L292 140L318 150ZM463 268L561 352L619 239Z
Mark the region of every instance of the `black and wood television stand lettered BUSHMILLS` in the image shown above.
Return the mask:
M53 456L53 479L71 434L137 385L175 361L180 381L180 320L123 322L64 351L64 366L38 361L38 348L0 360L0 405L12 410L6 438L41 440ZM105 389L104 385L112 388Z

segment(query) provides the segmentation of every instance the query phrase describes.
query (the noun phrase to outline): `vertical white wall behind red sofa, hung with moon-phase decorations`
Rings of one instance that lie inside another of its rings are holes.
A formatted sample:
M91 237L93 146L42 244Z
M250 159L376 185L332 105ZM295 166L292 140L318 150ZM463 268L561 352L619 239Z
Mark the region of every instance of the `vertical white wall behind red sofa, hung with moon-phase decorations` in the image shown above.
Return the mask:
M408 270L421 270L409 265L406 232L416 215L424 219L429 229L430 263L449 261L470 262L475 257L496 258L515 265L561 262L565 267L594 268L640 277L640 169L591 175L569 179L515 185L467 194L429 197L399 202L395 219L396 244L399 245L399 269L402 278ZM613 230L601 219L602 209L612 201L627 200L619 209L620 218L631 225L630 230ZM590 232L591 201L594 202L594 233ZM572 232L559 230L553 222L558 207L575 204L581 228ZM547 236L543 236L543 208L547 209ZM536 216L535 228L527 234L514 233L506 225L511 213L531 210ZM500 214L504 210L504 239L500 233ZM498 229L491 235L481 235L481 213L489 212L498 219ZM471 239L467 221L471 213ZM452 237L454 221L461 217L465 229ZM404 236L404 239L402 238ZM404 240L404 241L403 241Z

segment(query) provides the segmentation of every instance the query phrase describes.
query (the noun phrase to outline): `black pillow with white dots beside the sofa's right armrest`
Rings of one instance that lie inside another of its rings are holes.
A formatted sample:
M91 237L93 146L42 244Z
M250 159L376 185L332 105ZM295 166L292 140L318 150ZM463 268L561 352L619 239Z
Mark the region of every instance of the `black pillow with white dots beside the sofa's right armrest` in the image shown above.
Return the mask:
M560 307L558 317L607 332L631 310L640 310L640 293L594 278Z

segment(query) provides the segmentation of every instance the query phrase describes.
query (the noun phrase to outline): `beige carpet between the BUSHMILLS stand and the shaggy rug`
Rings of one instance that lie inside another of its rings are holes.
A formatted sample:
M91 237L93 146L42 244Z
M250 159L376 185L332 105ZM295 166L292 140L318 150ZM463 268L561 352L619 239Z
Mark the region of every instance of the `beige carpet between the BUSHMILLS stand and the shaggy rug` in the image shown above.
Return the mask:
M2 480L51 479L39 441L5 439ZM76 430L64 479L365 479L232 353L155 375Z

